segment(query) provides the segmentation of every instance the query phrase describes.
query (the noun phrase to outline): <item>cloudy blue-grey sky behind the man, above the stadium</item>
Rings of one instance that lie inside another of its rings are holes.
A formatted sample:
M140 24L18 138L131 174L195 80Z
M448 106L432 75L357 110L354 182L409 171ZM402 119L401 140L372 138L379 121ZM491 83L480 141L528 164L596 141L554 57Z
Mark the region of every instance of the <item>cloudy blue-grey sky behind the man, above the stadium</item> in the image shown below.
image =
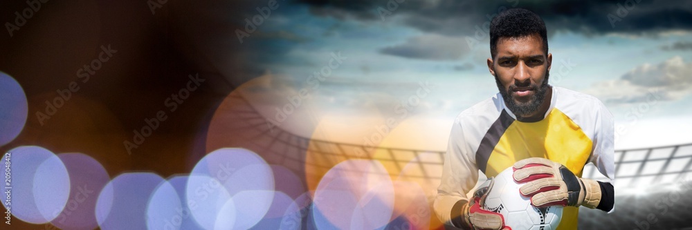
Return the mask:
M497 92L485 64L487 26L498 12L523 7L547 23L550 83L601 99L621 126L619 148L692 142L682 135L692 128L691 1L399 1L278 1L242 39L243 57L286 97L308 89L313 106L302 109L316 119L368 117L372 109L397 115L428 82L430 93L400 118L450 125ZM245 7L238 28L266 6L256 4ZM347 59L313 88L309 76L328 66L332 52ZM446 142L448 129L430 132Z

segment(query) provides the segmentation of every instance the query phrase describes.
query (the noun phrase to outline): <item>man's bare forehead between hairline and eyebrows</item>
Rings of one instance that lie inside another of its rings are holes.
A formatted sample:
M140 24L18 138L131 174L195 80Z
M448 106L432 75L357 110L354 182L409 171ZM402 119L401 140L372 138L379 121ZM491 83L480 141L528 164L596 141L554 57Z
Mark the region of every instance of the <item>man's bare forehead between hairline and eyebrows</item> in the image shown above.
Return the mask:
M545 55L543 39L538 35L525 37L502 37L496 46L498 57Z

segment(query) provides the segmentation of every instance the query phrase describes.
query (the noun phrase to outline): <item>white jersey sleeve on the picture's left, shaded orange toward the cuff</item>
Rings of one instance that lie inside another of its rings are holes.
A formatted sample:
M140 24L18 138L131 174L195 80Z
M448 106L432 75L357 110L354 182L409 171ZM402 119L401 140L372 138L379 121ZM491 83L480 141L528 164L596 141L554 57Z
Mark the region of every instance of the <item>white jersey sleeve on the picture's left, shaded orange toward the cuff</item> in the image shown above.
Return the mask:
M444 155L442 178L437 188L433 209L445 224L461 227L461 208L468 202L466 193L473 189L478 178L475 155L464 140L462 122L455 119Z

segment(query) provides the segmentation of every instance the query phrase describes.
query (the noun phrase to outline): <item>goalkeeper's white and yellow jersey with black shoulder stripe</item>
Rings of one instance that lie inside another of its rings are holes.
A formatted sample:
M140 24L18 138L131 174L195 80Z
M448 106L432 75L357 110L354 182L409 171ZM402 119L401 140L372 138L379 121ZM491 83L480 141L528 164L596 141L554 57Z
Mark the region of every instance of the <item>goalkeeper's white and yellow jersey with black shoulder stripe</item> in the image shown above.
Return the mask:
M491 178L529 157L558 162L579 177L592 162L614 180L614 123L608 109L591 95L556 86L552 90L543 119L518 120L500 93L457 116L433 205L442 222L459 218L479 171ZM558 230L576 229L578 212L565 207Z

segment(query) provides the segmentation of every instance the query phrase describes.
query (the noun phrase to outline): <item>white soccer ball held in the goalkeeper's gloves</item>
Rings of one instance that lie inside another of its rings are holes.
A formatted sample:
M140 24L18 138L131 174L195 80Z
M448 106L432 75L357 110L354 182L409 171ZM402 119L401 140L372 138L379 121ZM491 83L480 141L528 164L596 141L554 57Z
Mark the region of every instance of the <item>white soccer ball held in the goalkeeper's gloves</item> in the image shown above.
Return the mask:
M512 167L509 167L495 177L495 184L486 197L483 209L502 214L504 224L512 230L557 229L563 207L534 207L531 198L519 193L522 184L514 181L512 173Z

